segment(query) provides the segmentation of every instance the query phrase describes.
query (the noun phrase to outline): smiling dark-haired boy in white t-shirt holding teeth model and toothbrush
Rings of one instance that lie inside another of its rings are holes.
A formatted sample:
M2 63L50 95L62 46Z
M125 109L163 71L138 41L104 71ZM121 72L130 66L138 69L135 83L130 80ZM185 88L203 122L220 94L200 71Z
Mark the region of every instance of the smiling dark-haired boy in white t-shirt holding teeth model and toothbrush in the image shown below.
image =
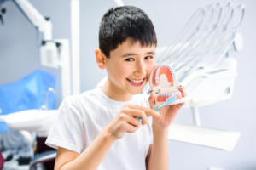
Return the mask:
M62 102L46 141L58 149L55 170L168 169L168 127L184 103L156 112L154 94L140 94L155 65L151 20L139 8L112 8L102 17L99 42L96 62L108 80Z

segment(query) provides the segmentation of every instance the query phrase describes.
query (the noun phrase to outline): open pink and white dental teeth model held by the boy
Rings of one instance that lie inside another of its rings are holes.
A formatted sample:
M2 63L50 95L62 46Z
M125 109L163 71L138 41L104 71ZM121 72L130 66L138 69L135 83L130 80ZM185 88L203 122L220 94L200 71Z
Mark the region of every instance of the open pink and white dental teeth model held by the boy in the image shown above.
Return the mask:
M176 74L169 65L156 65L154 67L149 77L149 87L155 94L155 105L162 105L167 99L175 95L177 99L170 105L177 105L185 101L178 90L180 84L177 82Z

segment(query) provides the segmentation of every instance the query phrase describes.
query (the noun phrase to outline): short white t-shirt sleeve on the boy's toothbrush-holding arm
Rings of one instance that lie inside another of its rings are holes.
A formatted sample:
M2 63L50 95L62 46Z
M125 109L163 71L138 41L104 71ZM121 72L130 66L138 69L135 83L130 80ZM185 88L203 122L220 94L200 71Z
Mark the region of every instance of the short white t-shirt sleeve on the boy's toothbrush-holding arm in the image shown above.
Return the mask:
M61 103L45 144L55 149L62 147L82 152L85 145L83 119L73 96Z

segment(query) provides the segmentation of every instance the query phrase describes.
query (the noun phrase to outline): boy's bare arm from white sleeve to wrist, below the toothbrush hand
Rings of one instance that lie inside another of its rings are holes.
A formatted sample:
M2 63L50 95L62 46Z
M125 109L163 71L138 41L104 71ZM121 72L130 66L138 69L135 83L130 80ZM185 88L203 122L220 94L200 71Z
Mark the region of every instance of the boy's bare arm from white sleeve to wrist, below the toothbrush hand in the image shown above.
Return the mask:
M103 130L81 155L59 147L55 159L55 170L96 169L114 141L113 136Z

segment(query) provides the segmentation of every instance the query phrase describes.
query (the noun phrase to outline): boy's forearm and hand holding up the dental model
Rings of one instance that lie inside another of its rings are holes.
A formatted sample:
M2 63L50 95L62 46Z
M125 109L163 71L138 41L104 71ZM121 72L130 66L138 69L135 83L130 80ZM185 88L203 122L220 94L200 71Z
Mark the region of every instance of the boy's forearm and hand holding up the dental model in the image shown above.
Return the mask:
M184 92L185 88L179 88L179 91L182 94L182 97L185 97L187 94ZM154 93L151 92L148 98L148 102L150 104L150 108L154 109L157 106L155 105L155 96ZM147 159L148 160L147 169L159 169L159 170L167 170L169 167L169 158L168 158L168 127L174 120L177 112L181 109L181 107L185 103L180 103L177 105L166 105L165 107L160 109L160 116L153 117L152 122L152 130L153 130L153 144L152 149L148 154L150 154ZM149 147L150 149L150 147Z

